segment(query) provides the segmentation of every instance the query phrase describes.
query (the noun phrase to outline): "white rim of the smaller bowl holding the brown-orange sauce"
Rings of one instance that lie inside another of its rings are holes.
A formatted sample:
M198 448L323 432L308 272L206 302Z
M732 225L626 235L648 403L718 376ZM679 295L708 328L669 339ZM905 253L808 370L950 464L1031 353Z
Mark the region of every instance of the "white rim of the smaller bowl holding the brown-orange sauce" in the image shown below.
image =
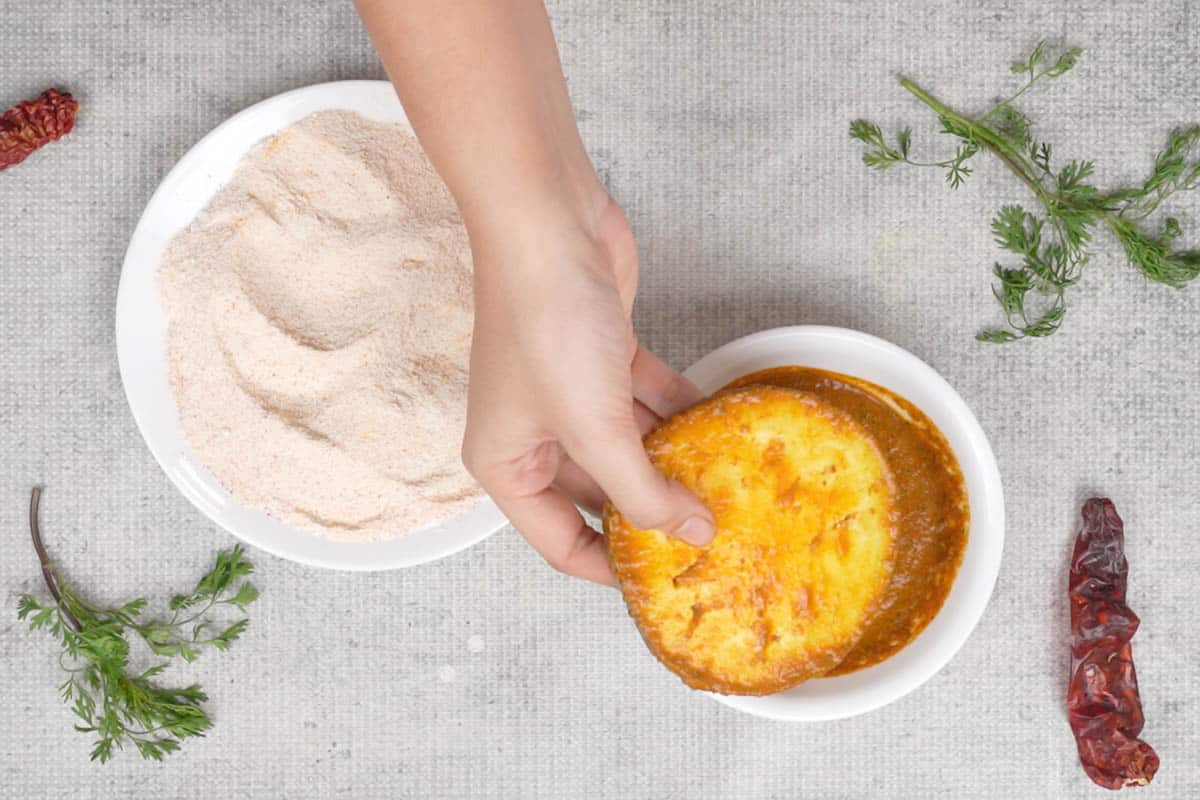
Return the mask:
M991 596L1004 546L1000 469L971 409L932 367L895 344L841 327L776 327L730 342L684 374L704 392L768 367L817 367L863 378L914 403L942 429L962 469L971 528L958 577L937 616L887 661L836 678L817 678L766 697L712 694L773 720L816 722L871 711L920 686L971 636Z

